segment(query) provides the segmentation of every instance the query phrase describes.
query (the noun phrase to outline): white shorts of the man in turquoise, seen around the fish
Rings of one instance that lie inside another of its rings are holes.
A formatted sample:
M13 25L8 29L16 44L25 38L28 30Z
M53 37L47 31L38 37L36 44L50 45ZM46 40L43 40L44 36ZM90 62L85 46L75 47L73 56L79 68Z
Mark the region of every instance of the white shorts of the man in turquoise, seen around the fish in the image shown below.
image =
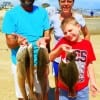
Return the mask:
M18 81L17 81L17 74L16 74L16 65L15 64L12 64L12 73L13 73L13 76L14 76L14 83L15 83L15 92L16 92L16 97L17 98L23 98L21 92L20 92L20 88L18 86ZM41 93L41 87L40 87L40 84L39 84L39 81L37 79L37 74L36 74L36 70L34 71L34 85L35 85L35 88L33 89L36 93ZM28 84L25 83L25 88L26 88L26 92L27 94L29 93L29 88L28 88Z

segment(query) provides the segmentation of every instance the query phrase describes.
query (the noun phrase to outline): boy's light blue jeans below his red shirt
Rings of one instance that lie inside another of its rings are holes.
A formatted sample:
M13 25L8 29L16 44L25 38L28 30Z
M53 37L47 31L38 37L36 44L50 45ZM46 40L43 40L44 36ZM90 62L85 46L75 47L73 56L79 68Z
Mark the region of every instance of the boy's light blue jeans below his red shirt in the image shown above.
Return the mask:
M75 98L68 97L68 92L60 89L59 100L89 100L89 88L85 87L84 89L78 91Z

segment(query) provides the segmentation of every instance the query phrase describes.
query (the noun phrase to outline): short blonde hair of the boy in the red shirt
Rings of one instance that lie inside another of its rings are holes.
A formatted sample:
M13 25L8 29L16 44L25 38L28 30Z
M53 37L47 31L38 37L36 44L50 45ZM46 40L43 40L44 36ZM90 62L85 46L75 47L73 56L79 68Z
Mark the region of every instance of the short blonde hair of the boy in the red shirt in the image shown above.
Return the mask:
M64 28L67 24L77 25L78 22L76 21L76 19L74 17L67 17L62 21L61 29L64 30Z

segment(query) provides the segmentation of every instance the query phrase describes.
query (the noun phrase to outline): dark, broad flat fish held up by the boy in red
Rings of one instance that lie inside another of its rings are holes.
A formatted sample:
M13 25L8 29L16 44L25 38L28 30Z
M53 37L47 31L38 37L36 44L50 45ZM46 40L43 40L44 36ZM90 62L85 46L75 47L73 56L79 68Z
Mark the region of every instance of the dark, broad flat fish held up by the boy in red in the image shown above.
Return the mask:
M68 97L76 97L75 85L79 79L79 71L75 63L76 53L69 52L66 62L63 60L59 64L59 77L68 87Z

